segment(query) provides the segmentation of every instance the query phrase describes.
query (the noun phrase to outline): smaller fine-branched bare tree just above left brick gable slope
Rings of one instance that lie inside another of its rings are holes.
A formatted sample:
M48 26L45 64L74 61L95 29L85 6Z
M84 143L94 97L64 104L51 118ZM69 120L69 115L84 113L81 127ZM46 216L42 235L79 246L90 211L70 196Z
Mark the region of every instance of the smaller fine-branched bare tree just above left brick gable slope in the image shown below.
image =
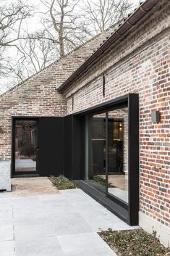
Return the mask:
M42 70L59 56L56 45L43 38L28 38L21 41L19 47L22 54L18 51L17 59L8 63L13 84L20 83Z

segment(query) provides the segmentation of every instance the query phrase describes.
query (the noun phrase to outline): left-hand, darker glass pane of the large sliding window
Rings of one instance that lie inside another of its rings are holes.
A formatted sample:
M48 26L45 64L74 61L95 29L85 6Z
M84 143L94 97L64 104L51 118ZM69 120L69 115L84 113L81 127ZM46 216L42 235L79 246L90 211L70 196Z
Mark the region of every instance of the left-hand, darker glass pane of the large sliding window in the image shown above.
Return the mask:
M86 175L93 186L106 189L106 114L86 117Z

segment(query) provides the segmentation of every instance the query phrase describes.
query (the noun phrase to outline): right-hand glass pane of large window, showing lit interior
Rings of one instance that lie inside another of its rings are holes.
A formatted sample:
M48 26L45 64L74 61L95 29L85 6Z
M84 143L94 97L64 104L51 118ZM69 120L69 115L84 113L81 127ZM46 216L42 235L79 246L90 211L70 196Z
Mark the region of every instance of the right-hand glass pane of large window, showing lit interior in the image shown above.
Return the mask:
M127 107L108 112L108 193L128 202Z

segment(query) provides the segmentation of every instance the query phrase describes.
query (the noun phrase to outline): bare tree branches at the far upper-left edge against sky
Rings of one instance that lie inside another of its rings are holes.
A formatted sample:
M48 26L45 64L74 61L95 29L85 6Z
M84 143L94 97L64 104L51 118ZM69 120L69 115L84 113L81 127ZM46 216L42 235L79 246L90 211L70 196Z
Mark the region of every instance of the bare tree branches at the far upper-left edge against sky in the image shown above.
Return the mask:
M8 81L14 76L12 54L20 51L22 57L25 55L19 47L19 42L27 38L23 23L33 16L32 11L33 8L21 0L0 3L0 81L3 90L11 87ZM6 77L8 81L5 80Z

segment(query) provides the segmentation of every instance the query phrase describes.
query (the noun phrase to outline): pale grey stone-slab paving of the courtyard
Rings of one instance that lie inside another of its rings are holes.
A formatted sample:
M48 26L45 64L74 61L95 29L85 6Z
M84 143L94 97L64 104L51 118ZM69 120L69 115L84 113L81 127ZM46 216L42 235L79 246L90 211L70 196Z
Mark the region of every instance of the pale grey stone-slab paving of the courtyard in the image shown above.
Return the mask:
M115 256L97 232L132 228L80 189L19 194L0 194L1 256Z

